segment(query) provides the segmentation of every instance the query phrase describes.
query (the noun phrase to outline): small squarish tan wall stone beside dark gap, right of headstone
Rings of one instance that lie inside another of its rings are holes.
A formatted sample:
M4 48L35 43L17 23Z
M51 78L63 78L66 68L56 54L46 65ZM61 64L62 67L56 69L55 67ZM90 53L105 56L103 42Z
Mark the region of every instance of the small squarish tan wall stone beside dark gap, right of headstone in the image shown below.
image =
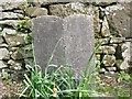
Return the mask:
M105 55L103 64L105 66L113 66L116 63L116 57L113 55Z

